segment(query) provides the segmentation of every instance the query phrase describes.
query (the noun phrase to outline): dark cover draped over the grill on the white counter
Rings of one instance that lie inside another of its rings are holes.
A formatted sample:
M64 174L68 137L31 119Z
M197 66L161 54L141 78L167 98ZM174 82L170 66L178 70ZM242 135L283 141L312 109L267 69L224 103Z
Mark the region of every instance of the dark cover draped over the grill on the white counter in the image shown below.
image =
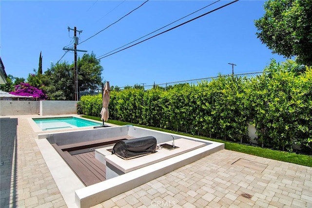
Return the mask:
M156 152L156 138L145 136L119 141L114 145L112 154L127 160Z

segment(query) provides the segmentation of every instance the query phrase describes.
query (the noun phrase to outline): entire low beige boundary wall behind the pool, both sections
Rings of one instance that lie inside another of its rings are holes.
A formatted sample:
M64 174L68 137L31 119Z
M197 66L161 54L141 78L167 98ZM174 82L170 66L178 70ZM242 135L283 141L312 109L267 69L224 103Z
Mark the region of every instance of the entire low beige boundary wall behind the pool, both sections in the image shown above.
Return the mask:
M13 101L0 100L0 115L61 115L77 114L78 101L40 100Z

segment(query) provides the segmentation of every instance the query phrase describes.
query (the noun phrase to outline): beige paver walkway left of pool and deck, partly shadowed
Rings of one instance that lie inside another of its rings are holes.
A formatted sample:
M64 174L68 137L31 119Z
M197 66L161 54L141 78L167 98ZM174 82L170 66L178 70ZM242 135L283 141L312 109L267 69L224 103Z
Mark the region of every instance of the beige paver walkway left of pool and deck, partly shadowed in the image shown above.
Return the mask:
M37 137L25 118L0 118L1 208L67 207L39 151Z

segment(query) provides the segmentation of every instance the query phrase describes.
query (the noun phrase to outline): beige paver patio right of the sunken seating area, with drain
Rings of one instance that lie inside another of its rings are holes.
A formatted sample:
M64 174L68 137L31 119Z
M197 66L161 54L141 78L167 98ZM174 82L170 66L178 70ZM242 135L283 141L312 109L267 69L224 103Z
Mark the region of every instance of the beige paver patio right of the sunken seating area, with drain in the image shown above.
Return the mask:
M240 158L268 166L260 172L235 165ZM312 168L223 150L94 208L312 208L311 180Z

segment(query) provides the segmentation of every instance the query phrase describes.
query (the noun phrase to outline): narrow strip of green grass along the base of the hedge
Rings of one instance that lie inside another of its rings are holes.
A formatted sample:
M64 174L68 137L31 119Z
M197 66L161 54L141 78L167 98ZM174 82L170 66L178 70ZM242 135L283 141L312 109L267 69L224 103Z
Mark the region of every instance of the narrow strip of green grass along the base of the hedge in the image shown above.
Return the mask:
M100 117L89 116L89 115L82 115L81 117L89 118L89 119L93 119L93 120L97 120L97 121L101 120ZM227 142L227 141L223 141L223 140L219 140L219 139L207 138L207 137L203 137L203 136L196 136L196 135L191 135L191 134L183 133L183 132L174 132L174 131L160 129L160 128L156 128L156 127L143 126L143 125L132 124L129 122L122 122L122 121L111 120L111 119L109 119L107 121L107 123L120 125L120 126L134 125L134 126L138 126L138 127L142 127L142 128L146 128L146 129L161 131L161 132L175 133L175 134L179 134L179 135L192 136L192 137L199 138L199 139L205 139L205 140L220 142L220 143L225 144L226 150L238 151L238 152L242 152L242 153L246 153L246 154L252 154L255 156L259 156L259 157L264 157L264 158L269 158L269 159L273 159L273 160L278 160L278 161L289 162L289 163L294 163L294 164L298 164L298 165L312 167L312 157L309 155L296 154L296 153L291 153L291 152L286 152L286 151L276 151L276 150L270 150L270 149L265 149L265 148L260 148L260 147L253 147L253 146L238 144L238 143L234 143L234 142Z

